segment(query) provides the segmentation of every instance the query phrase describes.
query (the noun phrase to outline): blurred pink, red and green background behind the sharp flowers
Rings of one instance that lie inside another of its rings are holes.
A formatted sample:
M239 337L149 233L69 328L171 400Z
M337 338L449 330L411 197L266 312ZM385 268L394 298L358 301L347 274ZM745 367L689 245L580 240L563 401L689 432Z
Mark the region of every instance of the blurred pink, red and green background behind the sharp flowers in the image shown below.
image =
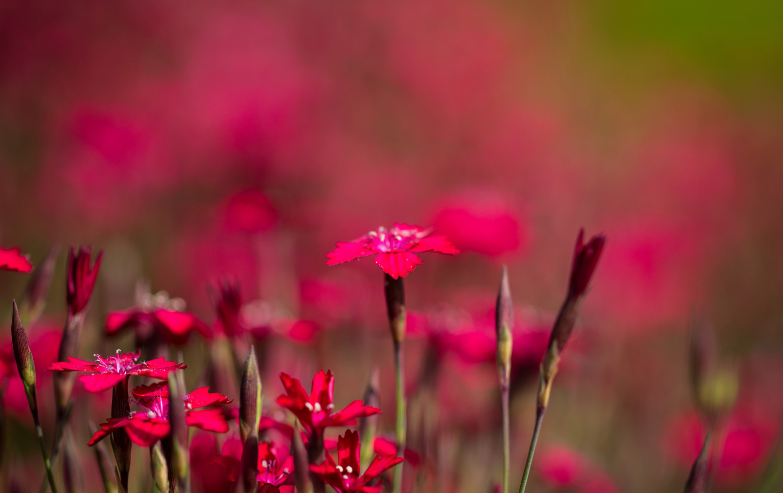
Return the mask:
M44 368L64 321L64 247L89 244L105 256L83 358L132 349L103 324L138 304L139 281L211 324L207 286L236 280L244 313L274 326L270 413L280 371L309 388L331 368L339 408L377 363L391 430L381 271L371 259L327 267L325 255L395 221L434 227L462 253L424 254L406 278L411 446L429 462L406 477L489 491L493 356L438 334L492 343L507 263L515 484L576 233L603 231L536 491L682 488L703 438L687 371L695 315L740 382L714 487L756 491L783 413L781 52L779 2L4 0L0 244L36 265L63 246L31 328L54 334ZM9 313L27 278L0 277ZM184 351L196 383L204 344ZM9 395L10 384L6 426L29 426ZM102 397L85 397L98 399L96 422ZM33 443L18 443L4 462L38 477ZM146 451L135 454L143 467Z

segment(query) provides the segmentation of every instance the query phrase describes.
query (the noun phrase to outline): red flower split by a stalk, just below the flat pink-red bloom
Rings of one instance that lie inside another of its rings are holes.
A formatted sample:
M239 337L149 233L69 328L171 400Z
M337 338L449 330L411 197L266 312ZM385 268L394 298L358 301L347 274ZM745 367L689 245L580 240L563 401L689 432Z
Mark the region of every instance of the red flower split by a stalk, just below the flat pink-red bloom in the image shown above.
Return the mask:
M160 382L152 385L142 385L133 389L135 402L145 411L132 411L123 418L109 418L101 423L100 430L92 435L87 445L96 445L112 431L124 428L128 437L136 445L151 447L158 440L165 438L171 431L168 422L168 384ZM229 423L226 412L221 408L196 409L207 405L228 404L233 399L226 395L212 393L208 387L197 388L182 396L185 406L185 420L188 426L201 430L226 433Z

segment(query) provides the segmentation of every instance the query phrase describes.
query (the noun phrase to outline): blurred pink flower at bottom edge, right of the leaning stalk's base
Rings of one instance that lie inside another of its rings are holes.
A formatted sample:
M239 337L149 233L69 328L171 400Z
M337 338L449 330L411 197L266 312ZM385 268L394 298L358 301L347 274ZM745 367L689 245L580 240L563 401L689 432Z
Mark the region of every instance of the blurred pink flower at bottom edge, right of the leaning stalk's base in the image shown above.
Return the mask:
M550 487L569 488L580 493L613 493L617 487L610 477L572 448L556 446L540 453L536 471Z

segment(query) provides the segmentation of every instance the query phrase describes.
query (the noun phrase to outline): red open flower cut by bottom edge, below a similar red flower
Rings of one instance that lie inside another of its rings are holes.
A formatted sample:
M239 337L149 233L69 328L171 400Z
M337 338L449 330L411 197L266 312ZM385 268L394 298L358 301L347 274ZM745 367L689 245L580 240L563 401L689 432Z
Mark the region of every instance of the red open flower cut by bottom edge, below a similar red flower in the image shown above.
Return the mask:
M337 493L379 493L383 487L381 484L370 486L368 483L381 476L385 470L402 462L402 457L386 455L375 456L373 462L363 474L359 475L359 433L345 430L345 436L337 438L337 460L335 463L332 455L327 452L327 460L318 466L310 466L310 470L316 473L334 488Z

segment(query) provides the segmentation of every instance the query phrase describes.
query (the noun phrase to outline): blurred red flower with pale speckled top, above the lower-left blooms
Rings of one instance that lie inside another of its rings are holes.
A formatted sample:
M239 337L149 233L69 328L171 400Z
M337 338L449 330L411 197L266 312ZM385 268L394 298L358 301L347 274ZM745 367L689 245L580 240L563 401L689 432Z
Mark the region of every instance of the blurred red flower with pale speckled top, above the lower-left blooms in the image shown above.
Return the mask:
M185 302L182 298L169 298L168 293L159 291L155 295L144 295L139 299L139 305L106 316L106 334L117 334L120 330L135 329L142 338L150 334L150 328L161 334L165 341L174 345L182 345L193 330L211 338L207 324L193 313L182 311Z

